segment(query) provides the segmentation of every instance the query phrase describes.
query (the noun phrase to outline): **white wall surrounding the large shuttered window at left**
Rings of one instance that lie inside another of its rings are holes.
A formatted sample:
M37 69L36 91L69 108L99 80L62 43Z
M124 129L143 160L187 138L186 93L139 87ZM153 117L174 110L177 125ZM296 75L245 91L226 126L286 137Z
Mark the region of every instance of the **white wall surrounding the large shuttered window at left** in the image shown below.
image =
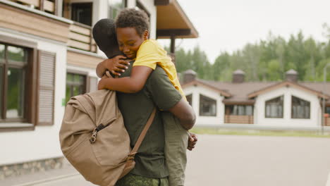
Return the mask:
M36 126L32 131L1 132L0 165L62 156L59 146L59 128L64 113L64 106L61 103L66 92L66 44L12 30L0 30L0 35L36 42L37 49L56 53L54 125Z

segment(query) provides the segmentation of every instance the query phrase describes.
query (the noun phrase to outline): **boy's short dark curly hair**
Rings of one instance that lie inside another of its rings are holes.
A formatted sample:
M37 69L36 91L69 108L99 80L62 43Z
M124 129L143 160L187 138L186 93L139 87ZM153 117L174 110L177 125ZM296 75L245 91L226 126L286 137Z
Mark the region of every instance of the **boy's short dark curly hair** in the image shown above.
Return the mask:
M125 8L116 17L116 27L135 27L138 35L142 36L145 30L149 31L149 17L145 11Z

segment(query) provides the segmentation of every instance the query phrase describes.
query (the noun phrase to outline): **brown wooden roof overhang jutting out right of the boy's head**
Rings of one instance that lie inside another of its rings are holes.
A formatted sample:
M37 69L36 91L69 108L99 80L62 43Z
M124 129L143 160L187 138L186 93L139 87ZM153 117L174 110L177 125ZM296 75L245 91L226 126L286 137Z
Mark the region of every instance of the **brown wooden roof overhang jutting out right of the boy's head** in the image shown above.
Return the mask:
M157 6L157 39L197 38L198 32L176 0L154 0Z

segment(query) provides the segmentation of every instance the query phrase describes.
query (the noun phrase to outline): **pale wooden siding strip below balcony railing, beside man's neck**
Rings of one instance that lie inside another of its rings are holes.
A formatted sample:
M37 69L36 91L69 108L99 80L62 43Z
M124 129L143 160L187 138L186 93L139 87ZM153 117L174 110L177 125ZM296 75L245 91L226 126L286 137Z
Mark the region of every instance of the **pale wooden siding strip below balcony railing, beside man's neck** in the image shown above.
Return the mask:
M67 52L67 62L74 66L96 68L97 64L103 60L104 58L89 56L75 51Z

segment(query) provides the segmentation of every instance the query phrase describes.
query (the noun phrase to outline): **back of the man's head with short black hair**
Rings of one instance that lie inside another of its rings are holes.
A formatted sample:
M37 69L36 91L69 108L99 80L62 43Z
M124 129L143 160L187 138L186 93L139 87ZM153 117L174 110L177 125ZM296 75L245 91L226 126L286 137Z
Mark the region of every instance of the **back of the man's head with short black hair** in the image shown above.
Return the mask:
M97 21L93 27L93 37L99 49L108 58L121 55L116 37L115 23L112 19L102 19Z

